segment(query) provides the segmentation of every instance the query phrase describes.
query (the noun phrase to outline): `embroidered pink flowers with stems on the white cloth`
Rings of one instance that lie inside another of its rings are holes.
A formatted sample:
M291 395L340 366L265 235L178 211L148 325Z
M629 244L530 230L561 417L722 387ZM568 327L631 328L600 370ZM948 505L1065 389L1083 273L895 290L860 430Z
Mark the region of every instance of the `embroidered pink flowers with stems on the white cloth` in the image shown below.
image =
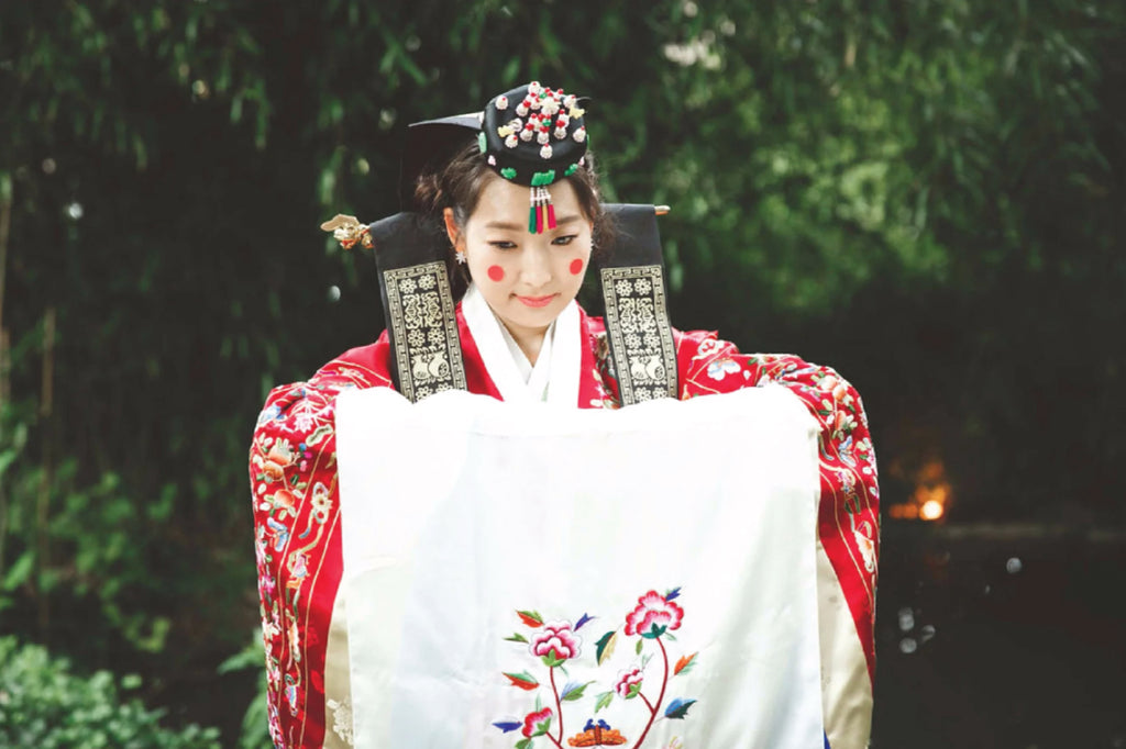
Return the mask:
M685 610L679 604L673 603L673 599L679 596L680 588L673 588L664 595L656 590L645 593L637 598L637 605L633 611L626 614L625 626L620 631L606 632L595 643L592 655L593 666L597 668L602 666L613 655L619 639L619 632L624 637L637 638L635 652L641 657L640 664L620 671L617 678L609 683L610 688L595 697L593 707L593 712L598 713L608 707L614 702L615 696L624 701L637 700L643 703L642 718L645 723L638 727L640 730L635 734L637 738L632 745L632 749L640 749L644 746L645 737L659 714L664 719L683 720L688 715L688 710L696 703L696 700L685 697L674 697L668 704L664 703L669 679L688 673L696 665L697 653L695 652L681 657L671 667L669 664L669 652L664 641L672 639L670 631L679 629L685 616ZM524 738L516 742L515 749L531 749L533 740L538 737L546 737L552 745L563 749L563 737L565 736L563 704L582 700L587 688L596 682L568 680L560 688L556 671L563 670L566 661L582 656L582 639L575 633L595 617L583 614L572 626L570 621L544 623L544 617L537 611L517 611L516 613L524 626L530 629L531 633L525 635L515 632L504 639L510 642L527 643L528 652L538 658L540 664L547 668L547 679L546 684L543 684L542 677L537 677L528 670L504 671L503 675L511 686L536 693L535 707L525 715L522 721L504 719L494 722L493 725L504 733L520 729ZM646 683L645 668L655 655L652 651L644 652L647 647L652 650L650 643L655 644L661 656L662 671L660 678L655 674L652 676L654 686L649 689L649 694L645 694L642 691ZM551 704L547 706L542 704L540 689L547 688L551 689L548 698L555 703L554 711ZM658 693L655 697L653 697L653 692ZM627 742L628 738L623 734L622 729L611 728L602 720L596 722L591 716L588 716L582 731L568 739L568 745L571 747L618 746Z

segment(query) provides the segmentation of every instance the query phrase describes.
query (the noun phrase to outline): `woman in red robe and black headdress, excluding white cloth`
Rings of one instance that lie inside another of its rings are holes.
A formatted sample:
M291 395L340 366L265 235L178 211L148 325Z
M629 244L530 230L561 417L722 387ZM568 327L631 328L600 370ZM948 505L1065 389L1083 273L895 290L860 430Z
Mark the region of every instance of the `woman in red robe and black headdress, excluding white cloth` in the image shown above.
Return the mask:
M372 227L349 217L325 225L346 246L374 245L381 274L402 279L384 288L391 328L309 380L275 388L253 435L250 479L274 743L351 740L345 602L337 595L339 392L395 387L418 400L459 387L506 401L617 408L777 382L821 425L817 576L826 742L834 749L866 746L878 488L859 395L829 368L793 355L743 354L714 333L671 328L653 263L635 263L644 272L633 274L604 270L605 321L578 305L592 263L622 271L631 262L619 255L623 242L615 234L628 241L637 233L615 228L600 204L586 112L562 89L521 85L491 99L479 116L425 124L414 138L404 164L419 174L409 191L410 222L400 214L393 224ZM432 232L419 228L427 226L439 232L445 258L438 262L411 259L415 247L425 255L423 245L436 246ZM392 251L396 243L405 250ZM420 268L427 270L410 270Z

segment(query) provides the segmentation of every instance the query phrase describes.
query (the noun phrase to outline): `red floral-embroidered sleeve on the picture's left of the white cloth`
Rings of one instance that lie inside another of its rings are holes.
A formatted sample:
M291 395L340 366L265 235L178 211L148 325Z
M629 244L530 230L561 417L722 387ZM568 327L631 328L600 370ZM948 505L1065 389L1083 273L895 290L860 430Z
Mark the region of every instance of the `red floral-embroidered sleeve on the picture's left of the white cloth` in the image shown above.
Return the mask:
M276 747L323 742L325 639L342 571L333 407L341 390L390 385L378 369L346 354L307 382L275 388L254 430L250 487Z

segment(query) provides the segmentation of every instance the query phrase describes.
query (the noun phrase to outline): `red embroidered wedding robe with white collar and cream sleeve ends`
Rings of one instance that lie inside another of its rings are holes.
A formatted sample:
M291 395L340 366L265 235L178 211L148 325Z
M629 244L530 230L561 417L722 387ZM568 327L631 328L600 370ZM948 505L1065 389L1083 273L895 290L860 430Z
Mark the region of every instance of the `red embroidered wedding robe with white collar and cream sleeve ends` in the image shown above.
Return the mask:
M545 359L529 371L527 362L521 370L513 360L501 328L481 307L488 313L471 292L457 308L471 392L509 400L565 399L580 408L618 406L600 318L572 305L556 322ZM823 720L832 749L864 747L875 666L878 488L859 395L833 370L796 357L741 354L708 332L677 331L674 341L681 399L774 382L797 396L817 421ZM334 404L342 390L391 385L383 334L329 362L309 381L275 388L258 419L250 478L269 729L277 747L351 742L346 602L338 596L342 557Z

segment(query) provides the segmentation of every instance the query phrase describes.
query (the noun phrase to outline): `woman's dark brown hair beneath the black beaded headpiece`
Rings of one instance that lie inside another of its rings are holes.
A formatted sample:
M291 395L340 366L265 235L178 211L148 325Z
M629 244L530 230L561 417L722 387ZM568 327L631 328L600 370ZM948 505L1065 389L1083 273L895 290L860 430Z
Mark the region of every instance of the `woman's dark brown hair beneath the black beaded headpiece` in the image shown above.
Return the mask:
M501 178L481 157L481 151L474 139L461 148L440 171L428 171L419 175L414 184L414 205L419 211L435 217L439 225L445 209L452 208L454 223L462 228L476 210L481 192L493 179ZM609 215L602 210L599 199L595 154L588 150L583 165L563 179L571 183L579 200L579 208L593 224L592 252L597 255L602 247L608 247L613 243L614 224ZM454 263L453 246L449 249L447 265L454 271L461 271L450 274L450 281L455 287L454 296L461 297L468 282L468 276L464 265Z

